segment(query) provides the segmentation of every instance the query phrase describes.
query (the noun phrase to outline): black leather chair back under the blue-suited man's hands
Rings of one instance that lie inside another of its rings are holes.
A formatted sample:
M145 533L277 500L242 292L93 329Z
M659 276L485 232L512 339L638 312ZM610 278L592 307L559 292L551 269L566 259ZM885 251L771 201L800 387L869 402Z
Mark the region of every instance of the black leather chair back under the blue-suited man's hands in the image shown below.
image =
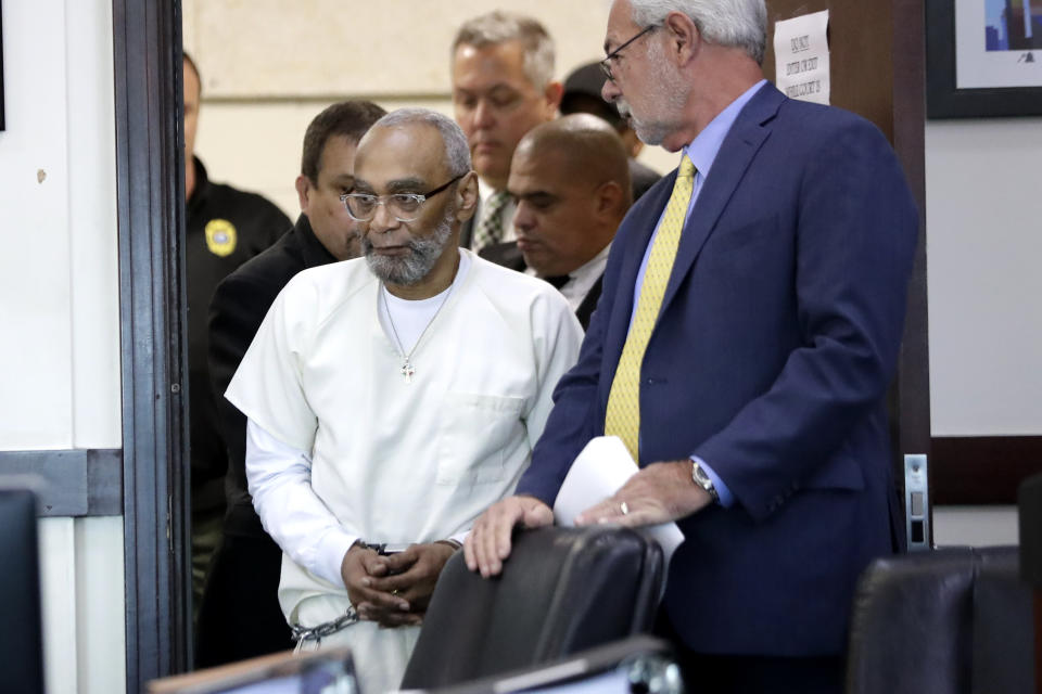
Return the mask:
M650 631L661 548L618 528L514 534L503 575L442 571L402 689L432 689L549 663Z

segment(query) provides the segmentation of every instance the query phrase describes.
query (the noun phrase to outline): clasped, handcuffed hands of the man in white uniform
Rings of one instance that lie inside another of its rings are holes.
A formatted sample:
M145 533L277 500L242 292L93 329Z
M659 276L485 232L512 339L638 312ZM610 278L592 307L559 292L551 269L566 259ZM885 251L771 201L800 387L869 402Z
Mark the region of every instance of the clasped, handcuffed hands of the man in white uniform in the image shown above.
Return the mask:
M387 555L352 547L340 573L358 618L389 628L422 622L437 577L455 551L444 542L410 544Z

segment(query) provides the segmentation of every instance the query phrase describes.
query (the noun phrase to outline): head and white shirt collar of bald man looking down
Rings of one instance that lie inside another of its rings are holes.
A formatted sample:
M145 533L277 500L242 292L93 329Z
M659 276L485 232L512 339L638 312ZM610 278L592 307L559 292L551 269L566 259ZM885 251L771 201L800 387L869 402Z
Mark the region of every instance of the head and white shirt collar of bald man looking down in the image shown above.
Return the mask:
M600 298L611 240L630 209L622 141L589 114L544 123L518 143L507 190L517 205L517 248L564 295L585 330Z

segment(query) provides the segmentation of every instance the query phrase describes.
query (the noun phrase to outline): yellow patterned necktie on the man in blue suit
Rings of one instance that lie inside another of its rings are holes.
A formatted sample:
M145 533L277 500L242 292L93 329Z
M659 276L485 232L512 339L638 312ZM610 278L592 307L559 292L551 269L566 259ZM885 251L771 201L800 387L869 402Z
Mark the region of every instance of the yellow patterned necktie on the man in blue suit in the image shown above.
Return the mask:
M684 155L681 159L681 170L676 175L676 182L673 184L673 194L665 206L662 226L655 235L651 253L648 255L644 282L640 284L640 297L637 300L637 311L633 317L630 334L626 335L622 357L619 358L615 377L611 382L611 391L608 395L605 434L621 438L638 465L640 463L638 457L640 364L644 362L644 351L648 347L648 339L659 317L659 309L662 308L662 297L665 294L665 285L670 281L670 272L673 270L673 260L676 259L676 248L681 242L681 231L684 229L684 217L691 202L694 185L695 165L687 155Z

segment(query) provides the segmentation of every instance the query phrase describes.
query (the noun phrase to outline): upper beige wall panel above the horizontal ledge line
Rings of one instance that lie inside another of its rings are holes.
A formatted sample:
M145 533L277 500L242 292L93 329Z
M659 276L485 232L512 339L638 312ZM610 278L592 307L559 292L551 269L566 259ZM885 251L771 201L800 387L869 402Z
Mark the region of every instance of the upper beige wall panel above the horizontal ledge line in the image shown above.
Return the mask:
M186 46L211 98L447 94L456 28L496 8L546 25L558 75L602 52L606 0L206 0L185 5Z

